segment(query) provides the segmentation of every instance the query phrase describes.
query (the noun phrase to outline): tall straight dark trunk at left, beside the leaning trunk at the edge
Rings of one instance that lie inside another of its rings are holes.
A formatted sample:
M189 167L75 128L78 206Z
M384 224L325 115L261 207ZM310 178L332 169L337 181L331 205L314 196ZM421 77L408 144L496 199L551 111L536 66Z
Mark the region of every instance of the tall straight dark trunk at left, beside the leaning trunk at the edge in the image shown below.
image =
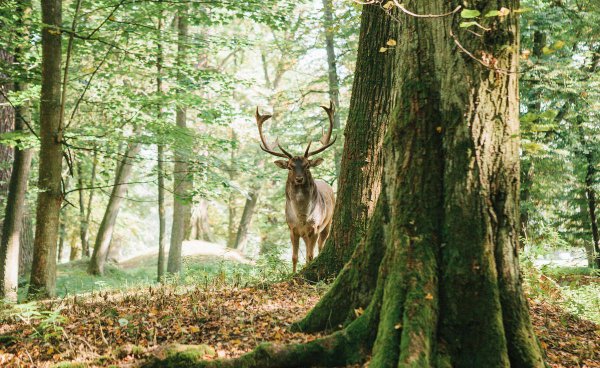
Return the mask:
M61 96L61 17L62 1L42 2L42 94L40 100L40 190L36 208L36 228L29 297L54 296L56 285L56 245L62 202L62 123Z

